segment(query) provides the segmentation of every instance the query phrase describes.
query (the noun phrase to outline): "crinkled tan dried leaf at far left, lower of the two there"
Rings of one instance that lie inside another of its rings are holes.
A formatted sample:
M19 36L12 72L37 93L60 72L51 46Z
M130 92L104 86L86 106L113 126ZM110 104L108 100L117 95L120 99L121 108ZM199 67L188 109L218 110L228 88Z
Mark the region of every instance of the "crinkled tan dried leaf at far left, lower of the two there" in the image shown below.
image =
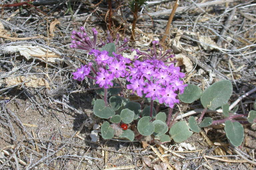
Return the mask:
M27 80L30 80L29 82L24 83L24 85L27 87L37 88L38 86L45 86L46 88L50 88L48 81L46 81L44 78L39 78L35 75L27 76L27 78L25 76L13 76L5 78L7 86L20 84Z

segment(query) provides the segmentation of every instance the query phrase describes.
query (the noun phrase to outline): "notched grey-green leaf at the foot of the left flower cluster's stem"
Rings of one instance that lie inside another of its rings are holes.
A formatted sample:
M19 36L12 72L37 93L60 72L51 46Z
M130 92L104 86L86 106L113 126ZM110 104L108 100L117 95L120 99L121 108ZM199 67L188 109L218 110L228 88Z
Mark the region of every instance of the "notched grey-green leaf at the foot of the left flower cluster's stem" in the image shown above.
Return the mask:
M102 99L98 99L94 102L93 113L103 119L108 119L115 115L115 111L112 108L105 106L105 102Z

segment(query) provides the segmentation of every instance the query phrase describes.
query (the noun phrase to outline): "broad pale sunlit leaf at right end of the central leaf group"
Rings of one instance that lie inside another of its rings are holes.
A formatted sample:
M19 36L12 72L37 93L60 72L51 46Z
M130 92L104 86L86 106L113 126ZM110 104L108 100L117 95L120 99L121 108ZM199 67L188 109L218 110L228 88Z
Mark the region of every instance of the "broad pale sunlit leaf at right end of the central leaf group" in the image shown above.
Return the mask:
M189 126L187 125L186 121L180 121L175 123L169 131L172 139L179 143L186 139L188 139L193 132L189 130Z

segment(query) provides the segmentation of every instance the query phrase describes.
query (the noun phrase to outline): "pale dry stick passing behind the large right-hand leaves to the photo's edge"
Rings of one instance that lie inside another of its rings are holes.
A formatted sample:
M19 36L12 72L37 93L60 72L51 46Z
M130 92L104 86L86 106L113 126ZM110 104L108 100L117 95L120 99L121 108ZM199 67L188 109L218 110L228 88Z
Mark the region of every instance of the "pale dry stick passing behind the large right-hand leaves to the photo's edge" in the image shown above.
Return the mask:
M230 106L229 106L229 110L233 109L243 98L247 97L248 95L250 95L251 93L255 92L256 91L256 87L250 91L248 91L247 93L245 93L244 95L240 96L236 101L234 101L234 103L232 103ZM200 113L202 112L203 109L195 109L195 110L192 110L190 112L187 112L183 115L180 115L176 118L176 120L179 120L181 118L184 118L184 117L187 117L187 116L190 116L190 115L193 115L193 114L196 114L196 113ZM219 110L206 110L205 113L222 113L222 109L219 109Z

